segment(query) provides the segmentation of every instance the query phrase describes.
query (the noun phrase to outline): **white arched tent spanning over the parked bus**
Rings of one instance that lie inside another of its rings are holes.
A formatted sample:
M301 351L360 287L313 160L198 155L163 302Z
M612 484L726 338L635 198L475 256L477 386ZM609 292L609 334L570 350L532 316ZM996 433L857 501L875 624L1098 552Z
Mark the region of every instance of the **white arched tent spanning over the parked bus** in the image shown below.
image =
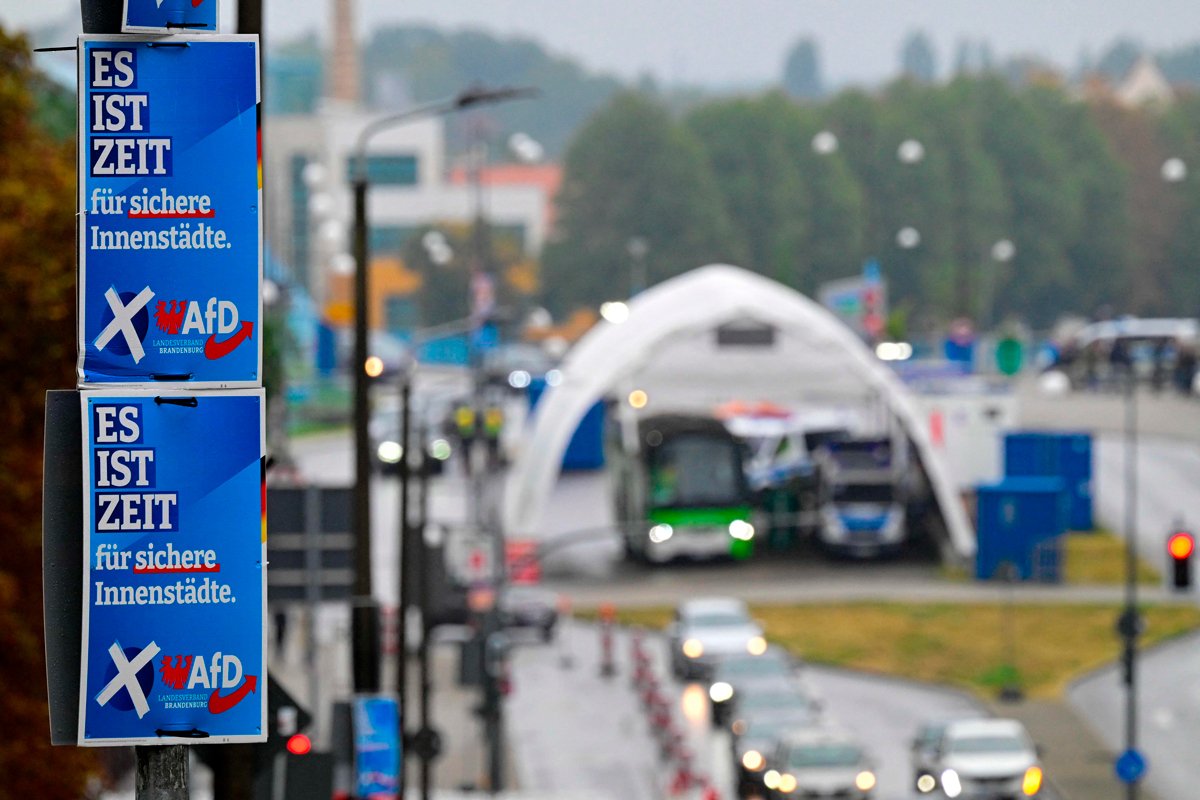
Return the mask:
M773 347L697 353L727 325L769 326ZM686 343L691 342L691 350ZM724 357L722 357L724 356ZM601 321L570 350L562 380L548 389L533 419L505 489L509 536L536 531L558 479L563 453L580 420L616 389L688 386L712 404L772 391L775 399L824 404L877 399L913 443L946 521L950 551L974 555L974 531L908 389L841 320L809 297L725 264L665 281L629 302L622 323ZM694 393L695 393L694 392ZM650 391L652 402L656 396Z

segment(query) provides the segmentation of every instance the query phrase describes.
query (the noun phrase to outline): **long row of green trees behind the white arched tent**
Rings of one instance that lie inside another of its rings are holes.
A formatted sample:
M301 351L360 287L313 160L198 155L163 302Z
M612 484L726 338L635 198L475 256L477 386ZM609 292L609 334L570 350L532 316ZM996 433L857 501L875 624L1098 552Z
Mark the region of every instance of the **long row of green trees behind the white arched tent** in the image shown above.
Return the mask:
M658 166L644 180L647 154L678 150L671 163L679 169L690 157L690 144L671 143L673 125L647 101L623 98L581 132L566 163L559 239L546 255L557 302L613 295L611 279L589 284L586 271L564 265L606 264L610 278L623 275L631 235L652 241L652 264L685 242L698 246L697 231L664 235L644 209L684 194L708 209L707 190L696 187L713 186L727 234L714 237L719 228L709 225L710 252L677 264L740 253L734 263L815 294L876 258L914 330L962 314L988 326L1008 317L1044 326L1102 307L1200 311L1200 272L1189 266L1200 251L1200 229L1189 224L1200 216L1195 97L1157 114L982 71L942 85L904 78L824 103L784 92L709 101L683 120L703 156L686 180ZM824 131L838 146L818 154L814 137ZM910 139L920 158L900 157ZM1192 168L1180 184L1162 178L1172 155ZM907 249L896 236L906 227L920 236ZM1007 260L994 249L1001 240L1015 248Z

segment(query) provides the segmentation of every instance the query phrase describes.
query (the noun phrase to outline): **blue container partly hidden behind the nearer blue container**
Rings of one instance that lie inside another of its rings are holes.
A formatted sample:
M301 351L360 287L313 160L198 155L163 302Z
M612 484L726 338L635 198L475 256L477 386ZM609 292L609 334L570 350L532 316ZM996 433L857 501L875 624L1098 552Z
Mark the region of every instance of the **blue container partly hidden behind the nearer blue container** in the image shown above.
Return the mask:
M1069 495L1067 525L1092 530L1092 434L1018 431L1004 435L1004 475L1062 479Z

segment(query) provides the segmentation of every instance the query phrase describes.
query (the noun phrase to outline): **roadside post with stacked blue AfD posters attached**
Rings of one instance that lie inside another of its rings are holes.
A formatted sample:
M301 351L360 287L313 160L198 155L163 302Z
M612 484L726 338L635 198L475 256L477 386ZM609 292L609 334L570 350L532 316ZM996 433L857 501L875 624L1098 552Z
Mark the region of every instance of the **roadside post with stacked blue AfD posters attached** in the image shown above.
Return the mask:
M137 796L174 800L184 745L268 734L258 37L217 35L216 2L82 17L78 410L47 401L80 447L46 483L82 513L44 522L82 602L47 597L48 631L79 632L49 666L52 740L133 745Z

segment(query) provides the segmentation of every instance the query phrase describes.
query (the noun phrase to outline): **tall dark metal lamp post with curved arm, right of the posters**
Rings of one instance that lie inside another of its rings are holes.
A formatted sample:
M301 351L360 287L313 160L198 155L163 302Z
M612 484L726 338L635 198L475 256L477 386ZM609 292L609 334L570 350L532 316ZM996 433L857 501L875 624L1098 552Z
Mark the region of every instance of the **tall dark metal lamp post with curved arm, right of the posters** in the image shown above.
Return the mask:
M502 102L529 94L526 89L472 86L432 103L372 120L354 144L354 613L352 621L353 673L356 692L379 690L379 607L371 596L371 453L367 435L370 391L367 362L367 187L366 149L371 139L391 127L424 116L439 116L473 106Z

